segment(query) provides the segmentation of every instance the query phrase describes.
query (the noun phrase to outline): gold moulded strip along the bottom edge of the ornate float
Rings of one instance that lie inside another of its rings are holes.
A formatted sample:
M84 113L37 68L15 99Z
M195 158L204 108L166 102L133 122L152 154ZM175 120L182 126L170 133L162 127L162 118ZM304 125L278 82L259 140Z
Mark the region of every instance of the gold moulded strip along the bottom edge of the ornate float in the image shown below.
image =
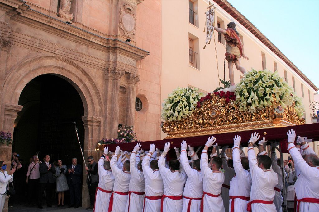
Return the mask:
M263 120L263 121L253 121L246 122L240 124L231 124L224 126L216 126L216 127L206 127L206 128L197 128L190 130L181 130L181 131L172 131L167 133L168 136L164 139L172 139L172 138L184 138L184 137L193 137L200 135L211 135L217 133L230 133L230 132L241 132L248 131L253 129L266 129L266 128L275 128L275 127L288 127L295 126L290 122L284 120Z

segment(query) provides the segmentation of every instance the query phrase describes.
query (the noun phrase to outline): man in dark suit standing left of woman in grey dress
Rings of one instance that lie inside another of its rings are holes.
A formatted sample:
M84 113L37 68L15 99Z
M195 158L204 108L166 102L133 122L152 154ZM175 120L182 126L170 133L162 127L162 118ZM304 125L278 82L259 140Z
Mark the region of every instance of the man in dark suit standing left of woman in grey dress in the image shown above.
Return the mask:
M47 206L52 208L51 205L51 185L54 182L53 174L56 174L56 169L50 161L50 156L46 155L44 158L44 162L40 164L39 171L40 171L40 179L39 179L39 197L38 197L38 208L42 207L42 197L44 193L44 189L46 190L46 200Z

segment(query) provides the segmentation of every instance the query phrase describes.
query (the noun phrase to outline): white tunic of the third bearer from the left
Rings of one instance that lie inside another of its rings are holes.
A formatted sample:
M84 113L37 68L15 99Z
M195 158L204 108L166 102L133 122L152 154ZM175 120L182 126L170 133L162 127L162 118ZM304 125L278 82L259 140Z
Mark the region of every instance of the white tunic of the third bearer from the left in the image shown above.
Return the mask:
M145 181L143 171L137 169L136 165L136 152L132 152L130 156L130 172L131 172L131 180L129 185L129 191L135 191L143 193L145 192ZM129 199L126 203L125 211L143 211L143 203L144 203L144 195L137 195L131 193ZM130 200L130 208L129 208L129 200Z

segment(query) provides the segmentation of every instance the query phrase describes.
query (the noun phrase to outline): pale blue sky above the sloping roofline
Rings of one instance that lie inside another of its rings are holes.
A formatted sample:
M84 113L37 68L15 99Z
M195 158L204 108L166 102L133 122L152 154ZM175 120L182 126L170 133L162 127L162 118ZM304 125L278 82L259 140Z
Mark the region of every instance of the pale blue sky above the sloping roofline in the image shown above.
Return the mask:
M319 0L228 0L319 87Z

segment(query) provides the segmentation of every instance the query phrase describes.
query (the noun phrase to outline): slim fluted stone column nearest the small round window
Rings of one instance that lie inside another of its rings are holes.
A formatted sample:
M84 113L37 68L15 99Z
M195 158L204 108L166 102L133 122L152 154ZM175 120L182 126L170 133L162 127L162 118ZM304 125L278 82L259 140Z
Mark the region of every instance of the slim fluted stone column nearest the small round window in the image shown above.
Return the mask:
M134 113L135 113L135 90L136 83L139 82L139 75L129 73L127 75L127 111L126 111L126 123L127 126L134 125Z

